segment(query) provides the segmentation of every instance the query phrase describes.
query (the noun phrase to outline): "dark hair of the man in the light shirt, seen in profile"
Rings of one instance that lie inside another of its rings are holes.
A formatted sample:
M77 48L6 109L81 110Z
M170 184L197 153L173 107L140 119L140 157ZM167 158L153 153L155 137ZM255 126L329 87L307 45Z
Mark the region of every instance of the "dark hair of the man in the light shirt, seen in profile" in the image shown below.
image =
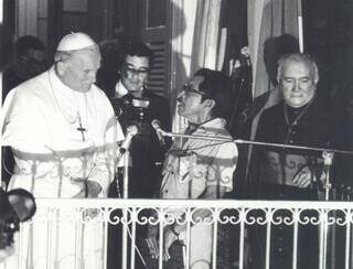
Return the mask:
M200 84L201 92L207 94L203 96L203 100L213 99L215 106L212 109L213 117L220 117L228 120L232 112L232 80L228 76L218 71L201 68L195 76L203 76L204 80Z

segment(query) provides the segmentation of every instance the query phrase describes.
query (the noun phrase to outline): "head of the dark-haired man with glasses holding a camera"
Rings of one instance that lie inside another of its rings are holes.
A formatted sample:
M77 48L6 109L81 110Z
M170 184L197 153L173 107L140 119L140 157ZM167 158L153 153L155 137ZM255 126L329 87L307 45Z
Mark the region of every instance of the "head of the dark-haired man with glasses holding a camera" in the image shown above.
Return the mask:
M140 97L152 66L152 51L141 42L128 42L124 47L121 83L126 89Z

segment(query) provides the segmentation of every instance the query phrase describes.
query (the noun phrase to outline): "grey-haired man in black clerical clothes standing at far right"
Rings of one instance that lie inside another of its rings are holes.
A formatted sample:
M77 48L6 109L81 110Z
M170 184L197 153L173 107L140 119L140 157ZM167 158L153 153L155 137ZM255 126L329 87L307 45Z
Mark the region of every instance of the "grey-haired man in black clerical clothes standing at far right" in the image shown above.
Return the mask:
M256 141L330 148L333 117L317 96L319 71L315 62L306 54L284 55L279 61L277 79L284 100L266 109L258 123ZM318 185L323 180L321 152L275 147L258 147L250 164L254 198L260 200L318 200ZM284 218L288 212L274 215ZM304 212L301 217L317 217ZM255 227L253 236L253 267L263 268L265 262L265 226ZM318 227L299 225L298 267L318 268ZM274 225L270 238L270 268L290 268L293 254L293 227Z

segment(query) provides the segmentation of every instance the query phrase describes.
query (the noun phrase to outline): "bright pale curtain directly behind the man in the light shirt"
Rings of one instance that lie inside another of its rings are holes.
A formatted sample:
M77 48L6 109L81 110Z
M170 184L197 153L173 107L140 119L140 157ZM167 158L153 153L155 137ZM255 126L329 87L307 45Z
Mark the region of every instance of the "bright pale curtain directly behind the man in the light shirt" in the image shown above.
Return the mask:
M171 0L172 57L171 111L173 131L182 131L185 120L175 110L182 85L201 67L222 69L226 30L220 26L222 0Z

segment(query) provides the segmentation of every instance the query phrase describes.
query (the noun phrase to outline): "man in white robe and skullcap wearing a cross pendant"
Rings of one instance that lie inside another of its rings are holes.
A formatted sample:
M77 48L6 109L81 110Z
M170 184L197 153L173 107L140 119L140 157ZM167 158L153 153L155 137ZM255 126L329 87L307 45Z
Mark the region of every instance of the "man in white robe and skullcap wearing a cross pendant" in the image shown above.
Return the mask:
M122 134L108 98L94 85L99 64L98 45L71 33L49 71L10 92L1 118L2 144L11 147L17 164L9 189L34 197L106 197ZM58 223L63 215L72 220ZM20 244L24 261L13 268L103 268L101 223L77 225L73 206L54 216L50 228L45 222L29 228Z

